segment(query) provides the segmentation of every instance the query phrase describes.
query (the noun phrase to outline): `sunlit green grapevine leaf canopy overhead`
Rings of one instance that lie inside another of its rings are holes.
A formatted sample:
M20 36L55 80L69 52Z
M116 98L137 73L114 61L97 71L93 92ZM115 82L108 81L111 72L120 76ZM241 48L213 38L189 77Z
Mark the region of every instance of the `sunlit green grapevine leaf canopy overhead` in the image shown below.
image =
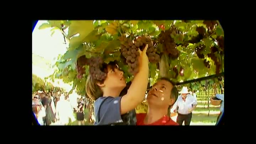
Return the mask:
M53 32L58 30L63 33L63 41L69 41L66 53L60 55L55 63L58 70L49 78L52 81L58 78L63 79L65 83L73 83L73 89L76 89L78 94L85 95L85 82L89 74L89 66L85 66L86 73L82 79L76 77L76 61L82 55L87 58L101 56L106 63L116 60L124 71L126 81L131 80L132 75L128 73L127 65L120 58L118 37L123 35L131 39L142 35L150 37L154 41L156 53L162 57L164 52L163 46L158 40L159 34L161 31L174 28L175 33L172 33L171 37L175 40L176 49L180 51L180 54L177 59L166 55L164 63L165 70L169 73L168 77L173 81L182 82L215 74L216 66L209 57L211 53L217 57L217 61L220 63L219 73L224 72L224 45L218 41L220 37L224 40L224 31L218 21L214 21L212 25L209 23L211 21L203 20L58 20L43 23L39 29L52 28ZM197 27L203 27L205 34L194 43L194 39L199 37ZM68 30L67 33L66 30ZM202 46L204 49L200 54L203 55L203 58L202 56L199 58L197 48ZM212 47L215 47L217 51L212 52ZM209 66L206 66L205 61ZM160 75L159 65L159 63L149 64L150 85L156 82ZM193 87L196 88L199 85Z

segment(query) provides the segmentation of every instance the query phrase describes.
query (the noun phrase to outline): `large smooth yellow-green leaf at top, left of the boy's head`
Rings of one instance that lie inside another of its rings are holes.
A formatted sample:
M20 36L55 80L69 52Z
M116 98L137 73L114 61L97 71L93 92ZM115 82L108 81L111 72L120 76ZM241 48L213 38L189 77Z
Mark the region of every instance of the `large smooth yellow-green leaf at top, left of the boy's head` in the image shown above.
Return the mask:
M68 37L79 33L79 37L84 39L93 30L93 21L70 21Z

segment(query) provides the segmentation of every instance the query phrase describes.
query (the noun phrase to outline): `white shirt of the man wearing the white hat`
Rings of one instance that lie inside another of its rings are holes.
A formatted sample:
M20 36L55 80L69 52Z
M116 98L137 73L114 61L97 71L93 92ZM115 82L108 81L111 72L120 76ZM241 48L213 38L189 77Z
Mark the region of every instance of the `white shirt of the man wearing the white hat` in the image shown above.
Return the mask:
M177 101L174 103L174 105L171 108L171 112L174 112L175 109L178 107L178 113L186 115L188 114L188 110L193 107L193 105L197 105L197 99L188 94L186 97L186 101L182 99L182 96L178 96Z

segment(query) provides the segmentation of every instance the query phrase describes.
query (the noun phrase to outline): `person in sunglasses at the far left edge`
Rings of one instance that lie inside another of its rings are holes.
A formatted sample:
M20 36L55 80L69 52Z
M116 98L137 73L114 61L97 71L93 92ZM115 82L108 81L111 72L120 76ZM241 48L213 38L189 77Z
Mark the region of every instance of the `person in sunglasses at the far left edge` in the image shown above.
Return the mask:
M44 124L43 117L46 116L45 109L39 101L32 102L32 111L37 118L38 123L42 126Z

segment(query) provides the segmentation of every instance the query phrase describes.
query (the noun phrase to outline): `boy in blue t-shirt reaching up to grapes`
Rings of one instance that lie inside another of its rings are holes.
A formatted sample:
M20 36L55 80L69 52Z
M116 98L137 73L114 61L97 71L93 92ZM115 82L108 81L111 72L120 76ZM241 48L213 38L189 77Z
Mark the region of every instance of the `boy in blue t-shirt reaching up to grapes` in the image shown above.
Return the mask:
M148 85L148 56L145 46L139 50L139 72L134 76L127 94L119 96L126 87L123 72L114 63L103 65L107 77L97 81L89 74L86 81L86 94L94 102L95 125L136 125L135 107L142 103Z

